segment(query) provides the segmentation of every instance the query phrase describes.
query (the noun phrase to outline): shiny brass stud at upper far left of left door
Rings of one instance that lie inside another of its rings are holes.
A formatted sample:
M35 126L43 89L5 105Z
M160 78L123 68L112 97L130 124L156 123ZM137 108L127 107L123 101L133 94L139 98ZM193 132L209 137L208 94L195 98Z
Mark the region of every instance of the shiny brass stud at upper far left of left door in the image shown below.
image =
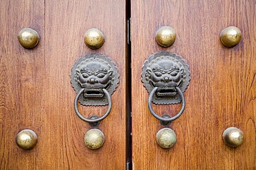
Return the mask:
M39 34L31 28L23 28L18 34L19 43L28 49L37 46L39 39Z

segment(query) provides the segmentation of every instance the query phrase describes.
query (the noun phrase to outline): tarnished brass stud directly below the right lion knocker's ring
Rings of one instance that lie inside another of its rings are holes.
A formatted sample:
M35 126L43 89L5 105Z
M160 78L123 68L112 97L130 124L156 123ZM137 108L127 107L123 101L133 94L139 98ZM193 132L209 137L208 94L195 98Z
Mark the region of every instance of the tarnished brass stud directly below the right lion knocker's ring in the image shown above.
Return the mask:
M176 143L175 132L170 128L160 129L156 134L156 142L160 147L171 148Z

